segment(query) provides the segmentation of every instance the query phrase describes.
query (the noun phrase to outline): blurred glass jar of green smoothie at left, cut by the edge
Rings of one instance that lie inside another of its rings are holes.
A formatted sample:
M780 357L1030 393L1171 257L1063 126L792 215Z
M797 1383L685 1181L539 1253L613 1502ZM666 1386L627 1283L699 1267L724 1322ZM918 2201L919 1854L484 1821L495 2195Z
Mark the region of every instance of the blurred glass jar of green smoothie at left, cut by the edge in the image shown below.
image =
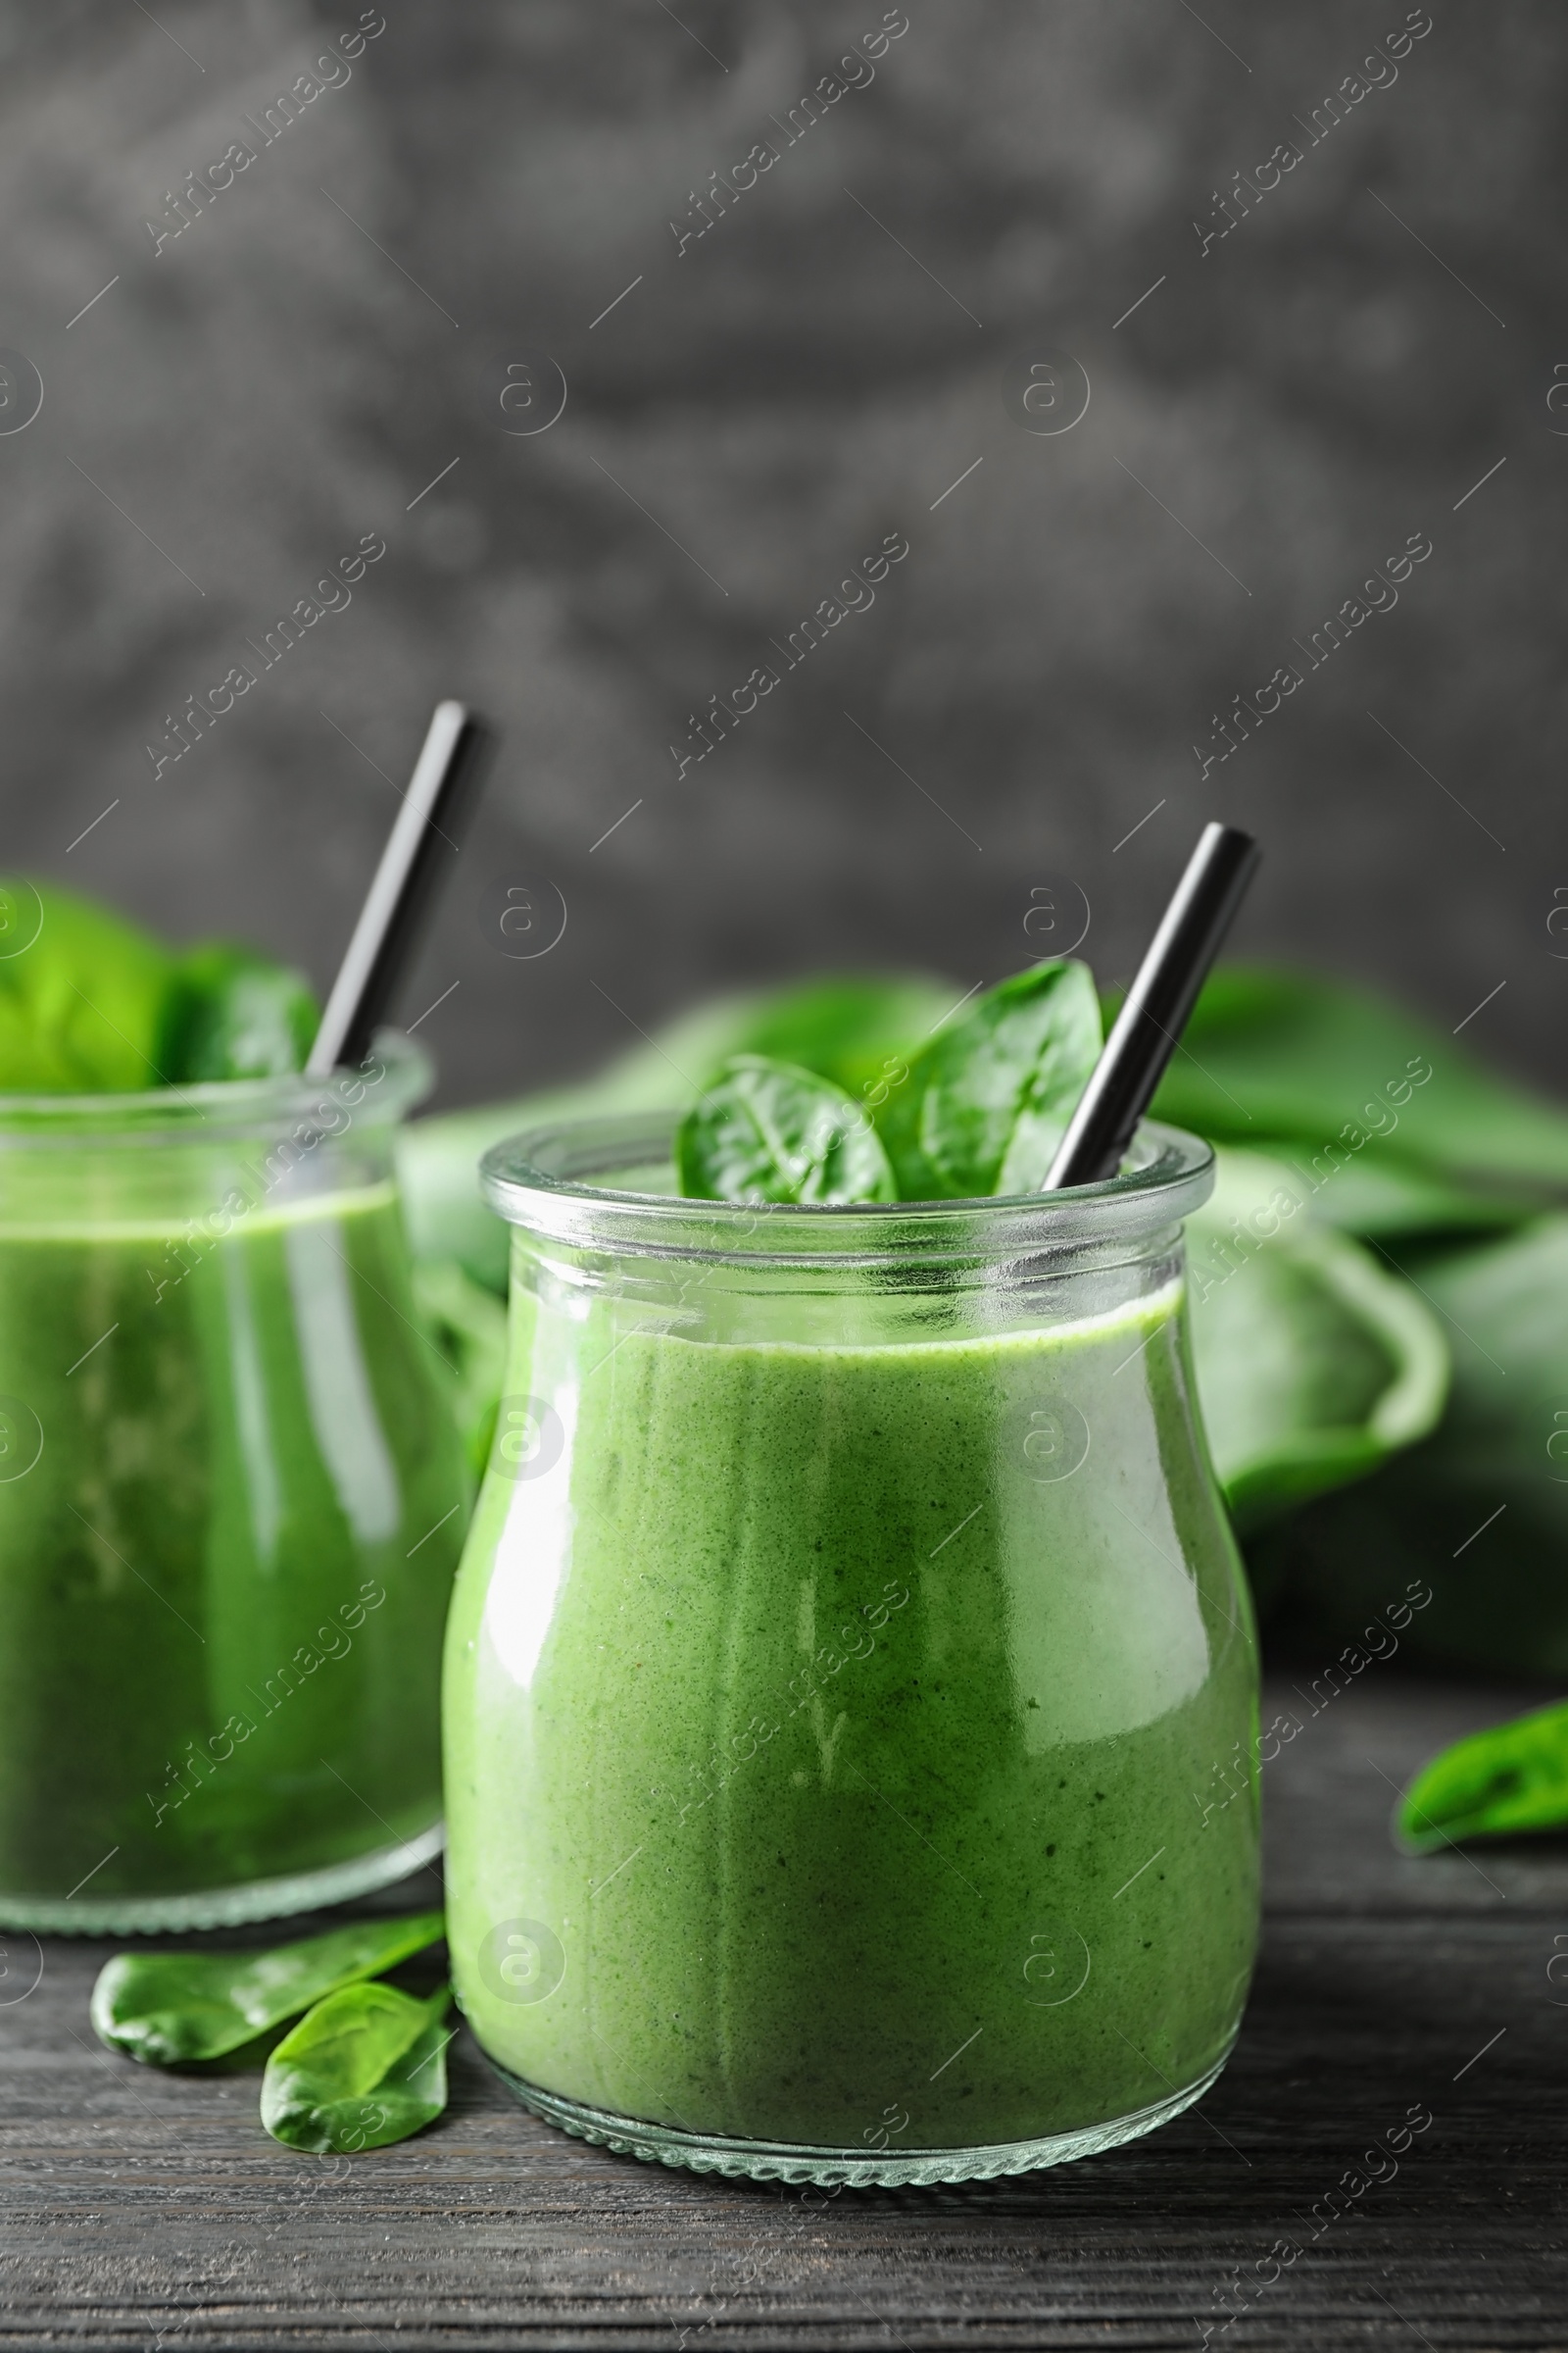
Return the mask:
M440 1847L465 1473L357 1073L0 1096L0 1922L212 1927Z

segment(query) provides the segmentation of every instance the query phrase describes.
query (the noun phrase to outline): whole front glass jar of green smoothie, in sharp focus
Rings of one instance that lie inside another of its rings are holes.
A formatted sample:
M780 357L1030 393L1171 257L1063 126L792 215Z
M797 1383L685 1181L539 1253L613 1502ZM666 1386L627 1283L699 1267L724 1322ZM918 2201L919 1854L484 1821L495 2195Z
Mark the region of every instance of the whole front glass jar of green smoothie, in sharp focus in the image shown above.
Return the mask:
M670 1198L670 1120L498 1146L512 1346L447 1628L458 2000L642 2158L964 2181L1220 2073L1258 1668L1145 1127L1056 1195Z

